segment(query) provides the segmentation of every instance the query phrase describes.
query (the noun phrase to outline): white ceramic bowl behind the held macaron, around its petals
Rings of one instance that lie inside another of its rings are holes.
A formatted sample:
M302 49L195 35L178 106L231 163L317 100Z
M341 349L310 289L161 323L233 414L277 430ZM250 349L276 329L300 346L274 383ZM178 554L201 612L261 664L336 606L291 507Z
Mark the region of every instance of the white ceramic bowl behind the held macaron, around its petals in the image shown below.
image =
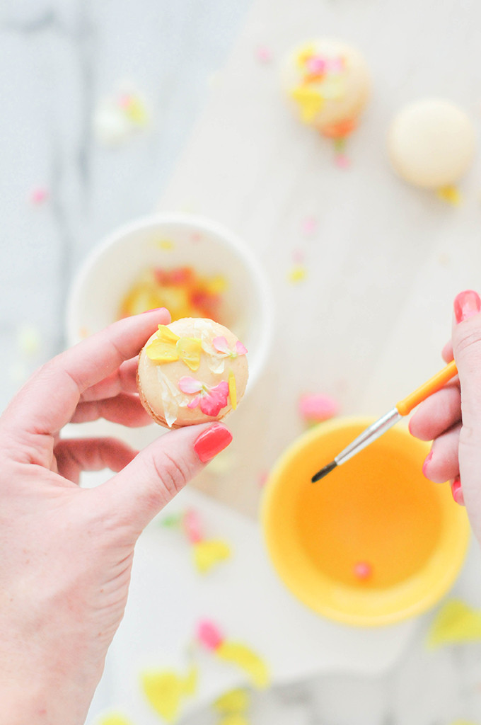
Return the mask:
M163 241L172 244L159 244ZM267 280L254 254L233 233L210 220L157 214L114 231L93 249L76 276L67 302L67 340L118 317L125 294L145 268L191 266L227 281L222 294L227 326L248 349L250 389L267 359L272 337L272 302Z

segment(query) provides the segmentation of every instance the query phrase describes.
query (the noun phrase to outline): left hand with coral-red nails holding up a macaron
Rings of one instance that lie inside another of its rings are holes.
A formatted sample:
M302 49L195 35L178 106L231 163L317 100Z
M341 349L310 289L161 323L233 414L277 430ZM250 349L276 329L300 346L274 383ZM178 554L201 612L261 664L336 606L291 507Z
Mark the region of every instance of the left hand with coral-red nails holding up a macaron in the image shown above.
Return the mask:
M151 423L138 352L167 310L125 318L38 370L0 418L0 702L5 722L82 725L151 518L231 441L212 418L143 451L68 440L66 423ZM111 468L94 489L80 472Z

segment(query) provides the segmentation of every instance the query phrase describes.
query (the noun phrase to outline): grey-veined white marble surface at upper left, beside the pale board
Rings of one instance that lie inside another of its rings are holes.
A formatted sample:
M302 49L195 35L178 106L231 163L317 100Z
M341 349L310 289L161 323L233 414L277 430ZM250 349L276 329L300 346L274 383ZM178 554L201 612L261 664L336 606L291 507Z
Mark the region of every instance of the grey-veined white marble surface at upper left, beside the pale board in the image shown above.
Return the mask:
M121 223L154 209L250 0L51 0L0 11L0 389L3 408L64 346L75 270ZM151 125L116 148L93 134L128 82ZM48 199L32 204L34 188ZM188 199L186 199L188 204ZM25 354L24 327L38 336ZM20 331L20 332L19 332Z

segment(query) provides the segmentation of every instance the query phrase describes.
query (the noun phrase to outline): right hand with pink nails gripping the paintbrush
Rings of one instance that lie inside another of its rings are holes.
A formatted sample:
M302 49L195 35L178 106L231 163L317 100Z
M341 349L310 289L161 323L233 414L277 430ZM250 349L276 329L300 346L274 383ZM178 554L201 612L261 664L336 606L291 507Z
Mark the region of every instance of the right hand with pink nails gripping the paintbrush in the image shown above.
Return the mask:
M465 504L474 534L481 542L481 299L461 292L454 300L452 341L443 349L446 362L456 360L459 376L419 406L411 433L432 440L424 476L451 480L453 498Z

